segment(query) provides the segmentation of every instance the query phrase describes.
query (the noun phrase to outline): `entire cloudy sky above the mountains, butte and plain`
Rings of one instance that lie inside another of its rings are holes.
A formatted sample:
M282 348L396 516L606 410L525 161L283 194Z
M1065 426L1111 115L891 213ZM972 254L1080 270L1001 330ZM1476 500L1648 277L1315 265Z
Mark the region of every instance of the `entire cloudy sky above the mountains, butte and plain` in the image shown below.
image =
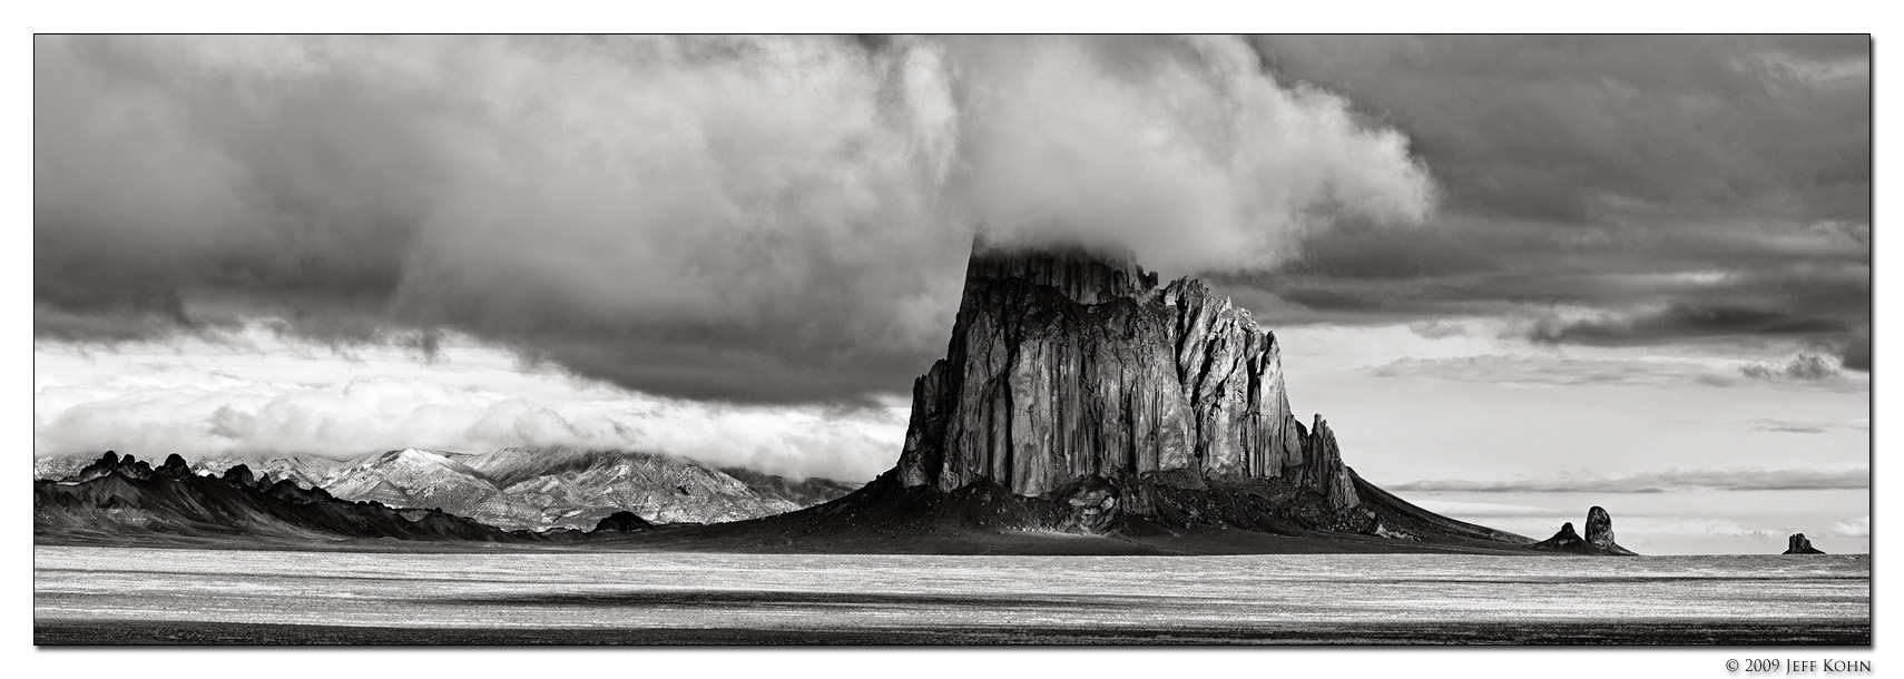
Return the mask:
M1283 342L1361 475L1870 542L1864 38L34 40L34 455L870 479L977 230Z

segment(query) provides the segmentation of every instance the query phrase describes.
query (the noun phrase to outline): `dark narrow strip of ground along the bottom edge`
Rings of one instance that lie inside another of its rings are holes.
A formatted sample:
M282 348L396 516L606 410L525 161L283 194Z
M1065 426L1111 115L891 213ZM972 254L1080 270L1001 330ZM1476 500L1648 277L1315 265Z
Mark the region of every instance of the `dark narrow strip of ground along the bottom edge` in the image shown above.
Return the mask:
M1870 647L1870 622L1287 624L1055 630L415 630L219 622L34 622L34 645L1828 645Z

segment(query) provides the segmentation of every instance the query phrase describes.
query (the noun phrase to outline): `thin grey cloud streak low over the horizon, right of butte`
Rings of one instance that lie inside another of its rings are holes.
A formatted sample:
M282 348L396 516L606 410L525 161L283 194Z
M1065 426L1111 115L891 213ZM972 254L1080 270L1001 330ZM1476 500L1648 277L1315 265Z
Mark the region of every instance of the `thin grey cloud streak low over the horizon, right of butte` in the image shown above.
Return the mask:
M1670 493L1670 491L1862 491L1868 470L1664 470L1626 475L1563 475L1548 479L1438 479L1392 485L1396 491L1460 493Z

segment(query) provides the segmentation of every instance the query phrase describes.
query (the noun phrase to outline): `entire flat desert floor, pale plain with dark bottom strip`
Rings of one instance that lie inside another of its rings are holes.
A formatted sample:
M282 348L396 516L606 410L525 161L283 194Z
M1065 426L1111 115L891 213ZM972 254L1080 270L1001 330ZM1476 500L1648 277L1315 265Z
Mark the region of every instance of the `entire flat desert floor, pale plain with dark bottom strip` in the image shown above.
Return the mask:
M1870 645L1868 555L38 546L40 645Z

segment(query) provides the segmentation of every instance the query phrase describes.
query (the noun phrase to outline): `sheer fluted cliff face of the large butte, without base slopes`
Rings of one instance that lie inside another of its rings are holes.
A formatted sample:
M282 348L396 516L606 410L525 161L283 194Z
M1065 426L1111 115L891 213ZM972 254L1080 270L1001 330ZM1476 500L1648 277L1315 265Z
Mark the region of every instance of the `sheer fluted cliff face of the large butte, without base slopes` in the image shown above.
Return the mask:
M1327 422L1291 415L1276 335L1247 310L1121 253L975 243L946 358L912 386L899 479L1041 496L1148 472L1359 502Z

